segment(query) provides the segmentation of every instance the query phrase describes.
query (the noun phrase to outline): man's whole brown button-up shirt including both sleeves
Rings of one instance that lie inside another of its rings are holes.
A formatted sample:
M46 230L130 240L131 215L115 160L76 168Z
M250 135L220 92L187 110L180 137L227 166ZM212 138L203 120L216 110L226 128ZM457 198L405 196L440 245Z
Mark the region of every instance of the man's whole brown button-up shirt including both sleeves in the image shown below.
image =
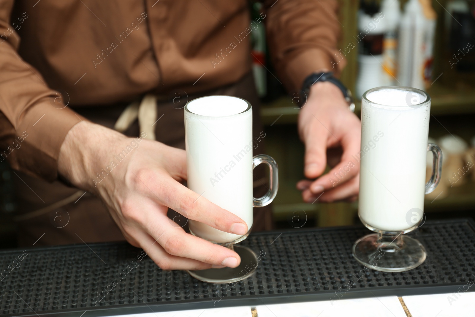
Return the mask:
M336 0L270 0L250 25L246 0L0 0L0 161L55 180L83 119L71 107L236 82L263 24L276 76L298 89L335 63L336 11Z

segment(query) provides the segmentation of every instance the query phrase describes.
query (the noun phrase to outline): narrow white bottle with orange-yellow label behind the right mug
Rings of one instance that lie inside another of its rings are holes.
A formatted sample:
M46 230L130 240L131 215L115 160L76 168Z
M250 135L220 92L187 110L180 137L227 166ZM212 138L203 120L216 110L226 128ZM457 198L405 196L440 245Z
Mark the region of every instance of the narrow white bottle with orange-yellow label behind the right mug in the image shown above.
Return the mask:
M394 86L397 83L398 29L401 10L399 0L383 0L381 12L384 15L383 38L383 77L382 86Z

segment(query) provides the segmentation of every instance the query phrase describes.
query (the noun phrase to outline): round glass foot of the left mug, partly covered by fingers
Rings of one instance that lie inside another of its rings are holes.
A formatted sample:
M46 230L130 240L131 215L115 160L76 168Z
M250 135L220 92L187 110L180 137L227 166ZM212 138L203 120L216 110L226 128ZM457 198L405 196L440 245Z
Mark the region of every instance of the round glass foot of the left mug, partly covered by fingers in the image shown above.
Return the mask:
M250 277L257 269L256 253L240 245L229 245L228 248L234 249L241 258L241 263L236 268L201 269L187 272L195 279L216 284L233 283Z

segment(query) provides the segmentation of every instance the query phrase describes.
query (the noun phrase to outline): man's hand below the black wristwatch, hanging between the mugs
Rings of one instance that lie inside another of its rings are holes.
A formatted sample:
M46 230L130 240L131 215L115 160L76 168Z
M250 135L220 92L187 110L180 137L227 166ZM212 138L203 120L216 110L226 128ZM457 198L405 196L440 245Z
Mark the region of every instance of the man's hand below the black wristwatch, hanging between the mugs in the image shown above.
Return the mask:
M305 177L318 178L302 180L297 188L303 191L305 202L318 197L322 202L353 201L359 192L361 122L337 86L318 82L310 89L298 129L305 144ZM341 155L334 157L332 152L338 148ZM321 176L327 163L333 169Z

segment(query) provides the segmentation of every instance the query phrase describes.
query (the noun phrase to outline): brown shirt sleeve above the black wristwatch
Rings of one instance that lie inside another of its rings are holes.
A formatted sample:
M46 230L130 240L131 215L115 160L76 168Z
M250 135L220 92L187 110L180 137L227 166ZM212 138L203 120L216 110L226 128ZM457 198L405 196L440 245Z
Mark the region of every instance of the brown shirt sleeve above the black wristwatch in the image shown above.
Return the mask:
M339 76L346 61L337 49L337 0L265 0L264 8L272 62L288 90L314 72Z

